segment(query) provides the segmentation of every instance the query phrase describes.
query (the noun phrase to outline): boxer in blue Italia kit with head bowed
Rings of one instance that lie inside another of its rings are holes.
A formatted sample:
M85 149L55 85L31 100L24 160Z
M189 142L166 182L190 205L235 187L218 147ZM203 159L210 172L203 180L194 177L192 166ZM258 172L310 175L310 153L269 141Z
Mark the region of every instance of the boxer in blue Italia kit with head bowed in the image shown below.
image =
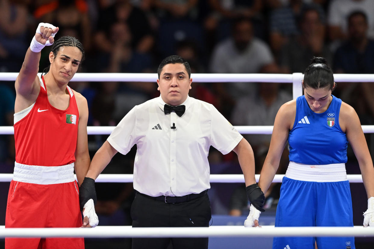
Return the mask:
M275 118L258 186L266 192L286 142L289 165L281 187L276 227L353 226L345 163L351 144L368 196L364 225L374 226L373 161L355 110L331 94L336 87L326 60L314 57L304 73L304 95L285 103ZM252 208L252 210L255 208ZM257 218L260 211L255 210ZM354 237L276 237L275 249L354 249Z

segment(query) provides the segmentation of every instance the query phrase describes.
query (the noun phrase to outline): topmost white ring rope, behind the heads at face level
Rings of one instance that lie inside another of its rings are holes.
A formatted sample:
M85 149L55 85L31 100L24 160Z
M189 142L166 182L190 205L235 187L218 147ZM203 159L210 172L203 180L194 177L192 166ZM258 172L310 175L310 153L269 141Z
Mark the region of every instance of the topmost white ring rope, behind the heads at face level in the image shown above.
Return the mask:
M298 74L297 78L300 77L300 73L294 74ZM191 74L191 78L194 82L293 83L294 74ZM18 72L1 72L0 81L15 81L17 76ZM71 81L156 82L157 78L157 74L76 73ZM335 82L374 82L374 74L334 74L334 80Z

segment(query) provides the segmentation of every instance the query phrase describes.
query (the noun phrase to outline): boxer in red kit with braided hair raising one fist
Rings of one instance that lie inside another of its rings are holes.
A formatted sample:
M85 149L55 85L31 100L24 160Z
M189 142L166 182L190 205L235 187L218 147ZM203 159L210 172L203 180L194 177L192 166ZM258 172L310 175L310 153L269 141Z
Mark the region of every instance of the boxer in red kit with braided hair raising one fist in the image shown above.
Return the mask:
M15 81L16 162L5 227L81 227L79 186L90 164L87 100L68 87L84 60L74 37L40 23ZM40 51L52 45L50 66L38 77ZM78 183L74 178L74 170ZM91 227L95 224L86 224ZM83 238L6 238L5 248L84 248Z

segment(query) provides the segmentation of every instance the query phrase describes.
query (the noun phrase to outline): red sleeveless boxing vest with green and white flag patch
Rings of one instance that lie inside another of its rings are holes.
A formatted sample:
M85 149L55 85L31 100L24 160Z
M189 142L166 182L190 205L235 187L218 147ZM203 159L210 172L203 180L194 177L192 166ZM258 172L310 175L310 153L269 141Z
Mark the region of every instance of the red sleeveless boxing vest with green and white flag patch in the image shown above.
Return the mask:
M78 106L73 90L66 110L48 101L42 76L40 93L31 111L14 124L16 162L27 165L61 166L75 162L78 135Z

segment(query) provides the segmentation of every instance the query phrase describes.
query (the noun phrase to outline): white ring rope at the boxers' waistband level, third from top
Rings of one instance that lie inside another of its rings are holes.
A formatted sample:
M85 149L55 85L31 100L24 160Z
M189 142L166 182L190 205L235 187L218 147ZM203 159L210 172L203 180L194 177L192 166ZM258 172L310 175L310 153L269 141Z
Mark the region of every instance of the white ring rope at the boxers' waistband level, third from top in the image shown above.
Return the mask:
M284 175L275 175L273 183L281 183ZM77 177L76 177L77 178ZM255 175L256 181L260 179L260 175ZM0 174L0 182L10 182L13 174ZM347 175L350 183L362 183L361 175ZM96 179L96 183L132 183L132 174L100 174ZM211 183L244 183L244 176L241 174L220 174L210 175Z

